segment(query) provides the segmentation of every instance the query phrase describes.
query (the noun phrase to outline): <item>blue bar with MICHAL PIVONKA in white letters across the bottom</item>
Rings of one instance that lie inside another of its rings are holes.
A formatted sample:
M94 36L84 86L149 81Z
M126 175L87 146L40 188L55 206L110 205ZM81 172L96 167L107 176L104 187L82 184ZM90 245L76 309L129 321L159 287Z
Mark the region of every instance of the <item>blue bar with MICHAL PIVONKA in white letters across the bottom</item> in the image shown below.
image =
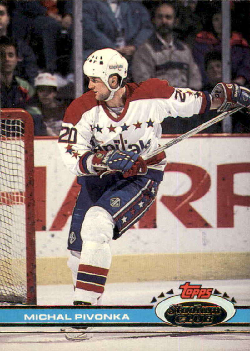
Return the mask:
M173 311L173 307L171 306ZM170 311L170 310L169 310ZM217 312L216 312L217 311ZM166 315L167 311L165 312ZM170 313L170 312L169 312ZM177 312L176 312L177 313ZM202 327L209 325L250 325L250 306L235 306L227 323L214 323L218 310L178 311L176 323L159 318L154 306L0 306L0 326L16 325L173 325ZM181 316L181 318L180 318Z

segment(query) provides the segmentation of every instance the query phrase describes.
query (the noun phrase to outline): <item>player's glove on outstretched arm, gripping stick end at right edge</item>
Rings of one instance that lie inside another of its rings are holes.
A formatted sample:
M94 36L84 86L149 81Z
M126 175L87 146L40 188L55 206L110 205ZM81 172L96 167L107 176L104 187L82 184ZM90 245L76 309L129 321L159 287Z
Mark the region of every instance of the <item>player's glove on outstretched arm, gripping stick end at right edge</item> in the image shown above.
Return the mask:
M211 92L212 99L220 99L217 111L229 111L237 106L250 108L250 90L236 83L218 83Z

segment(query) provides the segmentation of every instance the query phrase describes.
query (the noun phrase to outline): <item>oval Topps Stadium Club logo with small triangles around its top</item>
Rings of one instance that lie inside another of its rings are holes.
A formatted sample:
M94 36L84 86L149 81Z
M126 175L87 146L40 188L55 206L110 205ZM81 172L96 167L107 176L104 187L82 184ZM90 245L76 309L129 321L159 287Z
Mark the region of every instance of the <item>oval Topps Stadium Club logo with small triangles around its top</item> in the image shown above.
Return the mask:
M218 290L186 282L180 285L180 295L168 297L155 307L155 314L165 323L188 328L211 326L226 322L235 315L234 298L229 301ZM212 293L214 290L214 294ZM168 293L173 293L173 289ZM164 297L161 293L158 297ZM157 302L155 297L151 303Z

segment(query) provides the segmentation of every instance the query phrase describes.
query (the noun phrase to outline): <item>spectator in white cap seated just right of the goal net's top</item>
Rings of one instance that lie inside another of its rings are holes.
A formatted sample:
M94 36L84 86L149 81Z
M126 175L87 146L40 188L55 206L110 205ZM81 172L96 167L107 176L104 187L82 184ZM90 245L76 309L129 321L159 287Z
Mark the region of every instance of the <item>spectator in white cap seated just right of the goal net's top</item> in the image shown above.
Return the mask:
M59 135L65 108L57 99L57 80L53 74L39 73L35 78L35 95L26 110L32 115L35 135Z

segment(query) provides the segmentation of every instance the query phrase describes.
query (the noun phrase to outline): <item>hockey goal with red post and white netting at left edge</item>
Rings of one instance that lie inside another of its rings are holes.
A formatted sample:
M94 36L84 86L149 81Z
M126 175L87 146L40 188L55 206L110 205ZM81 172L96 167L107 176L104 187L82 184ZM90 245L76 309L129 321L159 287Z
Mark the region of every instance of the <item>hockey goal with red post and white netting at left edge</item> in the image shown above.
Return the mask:
M0 122L0 302L36 304L33 119L2 109Z

